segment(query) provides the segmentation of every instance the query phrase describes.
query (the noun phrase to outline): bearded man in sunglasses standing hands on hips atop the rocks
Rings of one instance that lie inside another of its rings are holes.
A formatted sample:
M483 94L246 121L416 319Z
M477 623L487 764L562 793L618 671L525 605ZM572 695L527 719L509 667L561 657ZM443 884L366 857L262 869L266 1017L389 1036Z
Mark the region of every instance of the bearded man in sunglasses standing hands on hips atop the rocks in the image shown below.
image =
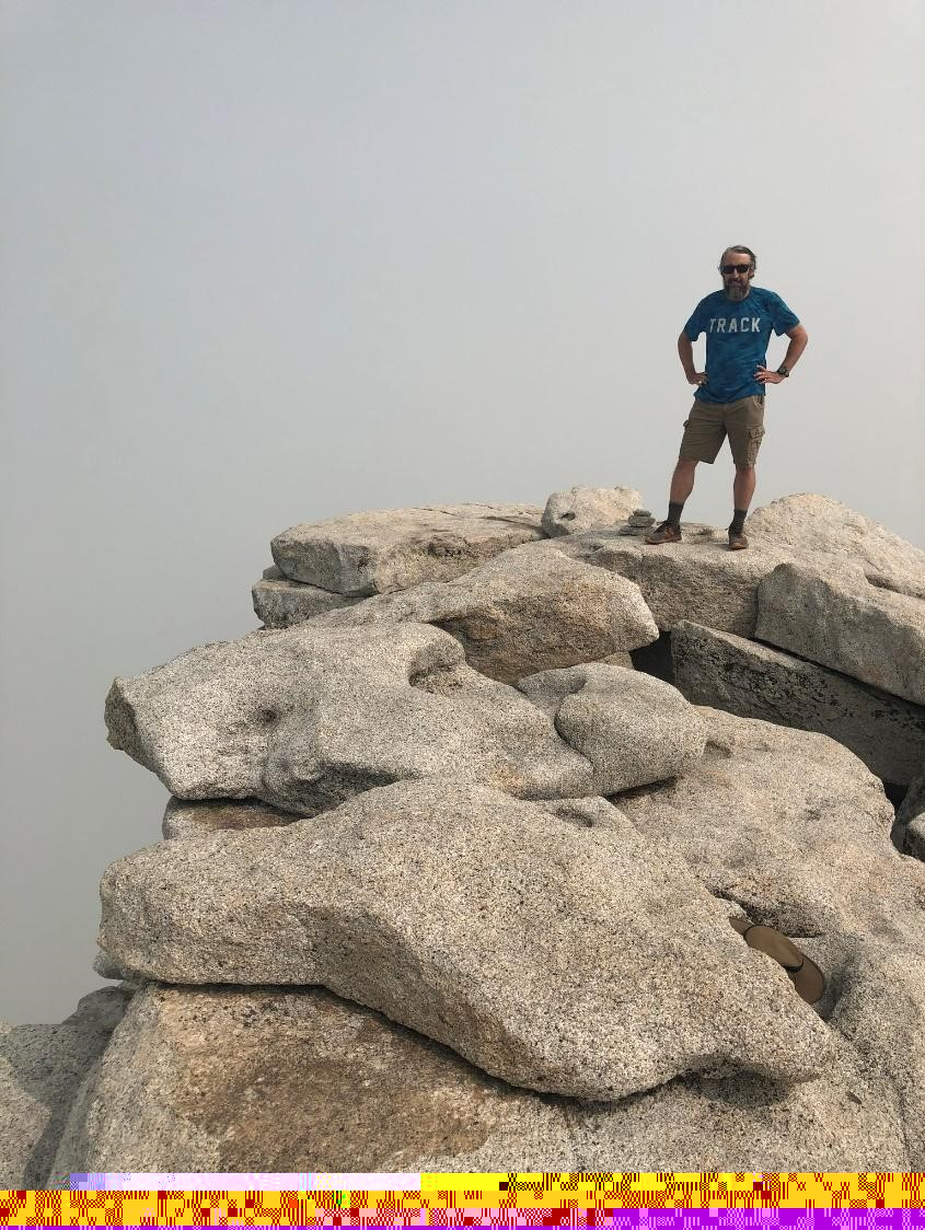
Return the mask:
M729 437L736 478L732 486L729 550L748 546L745 514L755 490L755 460L764 435L764 392L793 370L809 341L800 320L772 290L753 287L756 258L750 247L727 247L720 258L723 289L701 299L678 338L688 383L697 385L684 423L681 450L672 475L668 517L646 542L680 542L681 509L694 490L697 461L712 465ZM790 338L776 371L765 367L771 331ZM706 333L706 371L694 367L693 343Z

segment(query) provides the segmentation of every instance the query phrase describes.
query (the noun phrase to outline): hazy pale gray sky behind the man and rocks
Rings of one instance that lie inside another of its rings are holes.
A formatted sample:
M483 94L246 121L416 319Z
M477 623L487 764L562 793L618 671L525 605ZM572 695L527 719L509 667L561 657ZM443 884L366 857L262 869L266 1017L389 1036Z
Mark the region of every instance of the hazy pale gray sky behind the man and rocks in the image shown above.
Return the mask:
M811 337L754 507L925 546L919 0L0 16L6 1020L98 985L100 875L160 835L112 678L253 629L300 520L574 483L663 515L727 244ZM727 524L728 453L697 474Z

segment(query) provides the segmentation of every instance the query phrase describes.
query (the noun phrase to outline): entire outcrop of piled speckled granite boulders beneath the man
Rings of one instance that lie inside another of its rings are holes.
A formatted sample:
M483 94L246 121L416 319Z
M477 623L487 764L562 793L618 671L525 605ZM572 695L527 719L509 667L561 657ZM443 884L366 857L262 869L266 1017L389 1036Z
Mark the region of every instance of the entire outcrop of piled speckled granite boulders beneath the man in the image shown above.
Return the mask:
M260 629L114 680L162 838L116 985L4 1032L0 1184L925 1167L925 554L641 503L295 525Z

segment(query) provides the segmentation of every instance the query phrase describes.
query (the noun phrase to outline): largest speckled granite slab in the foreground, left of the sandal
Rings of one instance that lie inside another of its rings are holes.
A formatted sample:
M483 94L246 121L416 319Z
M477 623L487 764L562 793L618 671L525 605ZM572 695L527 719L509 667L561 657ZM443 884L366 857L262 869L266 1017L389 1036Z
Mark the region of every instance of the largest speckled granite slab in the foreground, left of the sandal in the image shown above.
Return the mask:
M899 856L897 856L899 857ZM725 903L629 822L400 782L113 863L101 947L164 982L320 984L540 1092L816 1076L829 1037Z

